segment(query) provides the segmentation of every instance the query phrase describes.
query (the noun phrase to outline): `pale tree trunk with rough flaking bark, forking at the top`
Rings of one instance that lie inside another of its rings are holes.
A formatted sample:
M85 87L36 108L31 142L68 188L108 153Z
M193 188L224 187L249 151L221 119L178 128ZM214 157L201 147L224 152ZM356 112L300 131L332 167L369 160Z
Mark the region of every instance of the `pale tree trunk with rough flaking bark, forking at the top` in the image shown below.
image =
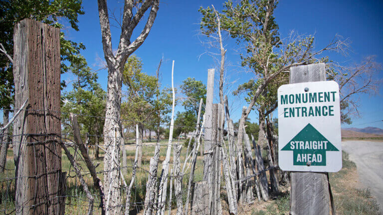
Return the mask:
M136 8L136 13L133 12ZM138 23L143 18L145 12L150 9L148 20L141 31L140 35L131 42L131 36ZM109 202L109 214L121 214L121 181L117 169L112 169L113 160L120 160L120 139L122 137L121 125L121 88L122 88L122 71L124 69L127 58L145 41L153 26L159 8L159 0L125 0L123 19L121 24L120 42L116 54L112 50L112 39L110 31L110 22L108 15L108 6L106 0L98 0L98 12L100 17L100 26L102 32L102 45L104 57L108 66L108 88L107 88L107 103L104 124L104 145L107 153L104 157L104 184L112 185L105 186L105 193L111 193ZM117 124L119 129L116 133L114 125ZM115 136L116 135L116 136ZM115 136L117 141L114 143ZM115 151L115 153L112 153ZM110 155L113 155L111 157ZM110 173L110 174L109 174ZM109 177L108 177L109 176ZM109 191L109 187L111 191Z

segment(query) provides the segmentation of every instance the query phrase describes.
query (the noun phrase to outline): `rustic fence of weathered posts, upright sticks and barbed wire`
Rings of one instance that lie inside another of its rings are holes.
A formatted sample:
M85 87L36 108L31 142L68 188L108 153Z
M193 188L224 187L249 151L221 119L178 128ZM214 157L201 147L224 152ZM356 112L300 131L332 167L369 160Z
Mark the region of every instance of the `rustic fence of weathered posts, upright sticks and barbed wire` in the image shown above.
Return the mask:
M208 71L202 122L201 100L195 126L174 125L173 119L171 123L157 123L170 126L169 140L148 142L140 136L137 125L148 127L145 122L60 111L59 35L58 29L30 19L16 23L14 28L15 108L12 119L0 130L1 146L11 146L9 150L1 147L9 153L0 173L0 213L108 215L110 210L114 214L164 215L168 210L170 215L177 206L177 215L213 215L222 214L221 199L226 199L228 209L224 210L236 215L237 203L254 200L253 188L258 200L261 196L268 199L266 171L272 175L277 166L269 162L265 168L262 150L254 140L251 148L244 127L238 131L243 142L237 142L228 108L224 139L223 104L212 104L214 70ZM110 124L108 135L85 133L77 117L112 119L114 135L110 135ZM135 138L120 136L123 132L117 129L121 129L121 122L136 124L136 131L128 130L136 134ZM13 133L3 133L10 125ZM180 136L171 138L174 127L193 130L189 141ZM206 134L203 138L202 133ZM90 137L95 139L93 144ZM99 138L104 141L99 143ZM197 155L199 147L204 150ZM144 149L142 163L138 162L139 148ZM98 150L103 161L93 153ZM271 149L266 151L266 160L271 161ZM276 181L272 178L271 187ZM113 193L111 199L112 186L119 195ZM221 198L221 190L226 198Z

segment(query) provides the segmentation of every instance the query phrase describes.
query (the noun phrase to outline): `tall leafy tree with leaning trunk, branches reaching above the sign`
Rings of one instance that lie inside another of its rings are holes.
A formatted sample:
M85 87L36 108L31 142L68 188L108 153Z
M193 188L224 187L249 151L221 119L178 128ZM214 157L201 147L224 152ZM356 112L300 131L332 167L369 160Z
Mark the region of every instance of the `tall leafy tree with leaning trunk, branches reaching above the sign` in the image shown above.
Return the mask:
M313 51L313 36L292 36L289 41L282 40L273 16L276 6L276 0L240 0L237 4L228 0L220 13L210 7L199 9L202 14L202 32L206 35L215 33L216 16L219 16L220 28L245 47L241 64L251 69L258 82L249 106L242 111L238 130L239 143L242 142L241 132L246 117L270 82L290 67L309 64L323 51L340 48L339 41L334 40L325 48Z

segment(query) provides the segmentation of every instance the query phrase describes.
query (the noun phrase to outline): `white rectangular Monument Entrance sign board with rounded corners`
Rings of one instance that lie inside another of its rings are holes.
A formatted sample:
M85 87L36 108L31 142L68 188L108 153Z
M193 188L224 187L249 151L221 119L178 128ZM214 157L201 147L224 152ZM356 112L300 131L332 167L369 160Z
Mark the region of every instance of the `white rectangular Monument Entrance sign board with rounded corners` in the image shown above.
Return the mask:
M278 88L279 167L338 172L342 168L339 86L334 81Z

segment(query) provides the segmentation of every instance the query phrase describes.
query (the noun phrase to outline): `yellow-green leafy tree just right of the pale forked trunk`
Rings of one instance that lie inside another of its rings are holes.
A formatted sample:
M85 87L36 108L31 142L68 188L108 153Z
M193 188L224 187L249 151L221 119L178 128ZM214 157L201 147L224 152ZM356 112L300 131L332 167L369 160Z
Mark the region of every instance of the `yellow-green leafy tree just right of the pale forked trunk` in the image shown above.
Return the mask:
M171 111L172 94L170 89L160 90L158 78L142 72L142 60L131 55L123 71L123 84L127 86L126 100L122 103L121 113L124 126L139 128L139 159L142 161L142 138L145 128L155 129L167 121ZM161 131L161 129L160 129ZM157 134L159 135L159 134Z

